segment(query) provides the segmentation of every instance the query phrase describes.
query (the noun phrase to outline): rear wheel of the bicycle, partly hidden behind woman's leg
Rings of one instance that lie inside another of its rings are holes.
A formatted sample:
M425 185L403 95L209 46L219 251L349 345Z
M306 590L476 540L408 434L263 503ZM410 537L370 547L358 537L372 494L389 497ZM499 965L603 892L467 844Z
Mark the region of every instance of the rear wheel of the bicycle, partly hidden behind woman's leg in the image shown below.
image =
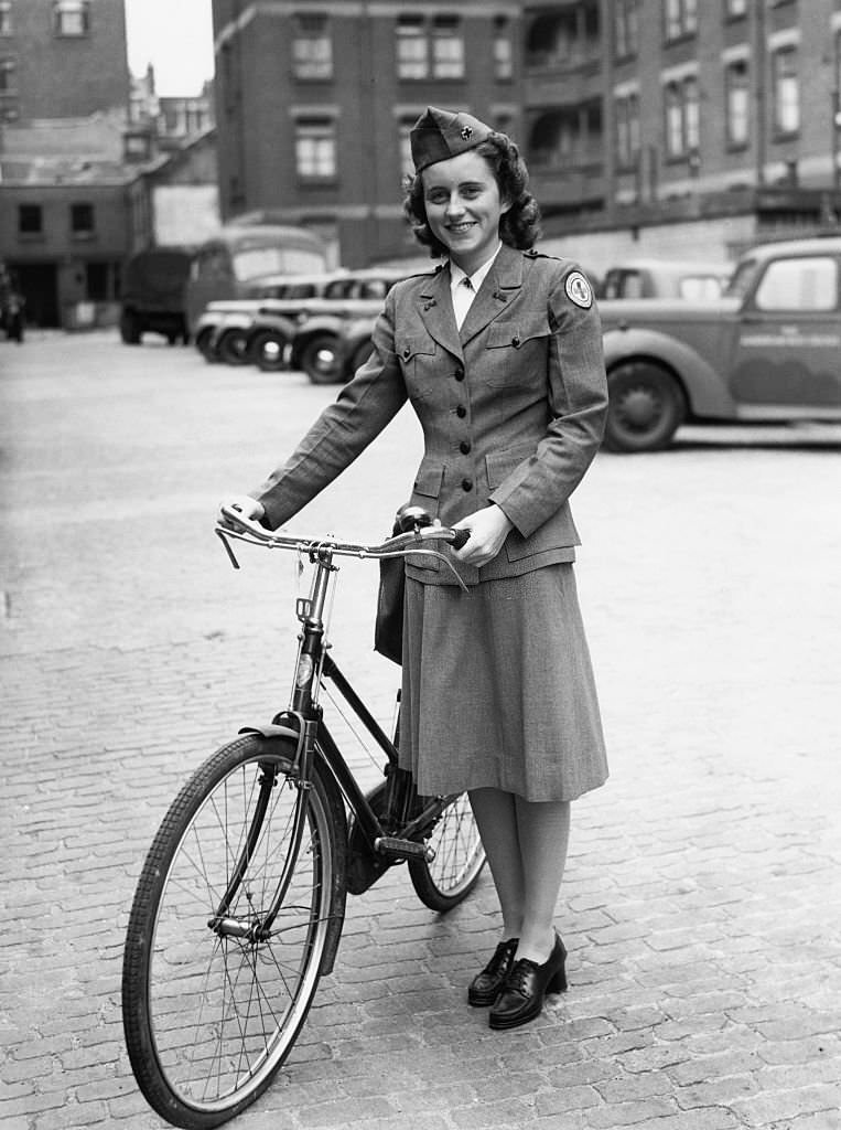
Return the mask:
M449 799L427 842L435 858L410 860L409 875L420 901L432 911L446 913L467 897L485 864L466 792Z

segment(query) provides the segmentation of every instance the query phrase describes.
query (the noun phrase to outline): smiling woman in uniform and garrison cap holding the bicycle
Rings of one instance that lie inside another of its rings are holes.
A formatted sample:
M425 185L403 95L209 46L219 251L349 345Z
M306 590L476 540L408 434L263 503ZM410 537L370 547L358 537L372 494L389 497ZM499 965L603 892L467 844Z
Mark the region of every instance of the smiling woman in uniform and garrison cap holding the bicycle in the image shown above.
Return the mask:
M404 211L447 263L391 290L370 359L229 505L275 529L411 400L424 434L411 502L470 531L453 551L470 591L408 558L401 763L423 796L468 792L502 912L468 1000L511 1028L566 988L553 920L570 801L607 777L568 503L602 438L602 334L581 271L531 250L538 210L517 147L435 107L411 144Z

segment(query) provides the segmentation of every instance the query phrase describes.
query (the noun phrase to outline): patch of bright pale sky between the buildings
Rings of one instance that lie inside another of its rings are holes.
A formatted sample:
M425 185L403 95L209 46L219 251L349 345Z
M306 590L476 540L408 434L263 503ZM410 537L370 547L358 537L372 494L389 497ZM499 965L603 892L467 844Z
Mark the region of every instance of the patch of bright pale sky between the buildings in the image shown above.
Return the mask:
M125 0L129 68L155 68L159 95L199 94L213 77L210 0Z

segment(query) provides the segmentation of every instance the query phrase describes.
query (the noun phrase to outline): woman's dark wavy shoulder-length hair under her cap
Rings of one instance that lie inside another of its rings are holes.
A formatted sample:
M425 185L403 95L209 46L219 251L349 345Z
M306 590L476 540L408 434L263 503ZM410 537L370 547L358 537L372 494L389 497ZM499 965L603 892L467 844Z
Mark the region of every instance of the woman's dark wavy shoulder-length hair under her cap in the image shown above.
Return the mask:
M519 149L507 133L491 131L474 151L488 163L499 188L500 198L510 202L510 208L499 221L500 240L519 251L527 251L541 234L541 210L528 191L528 169L519 155ZM423 181L420 173L406 176L403 182L403 215L415 240L429 247L431 257L449 254L449 249L432 234L427 220Z

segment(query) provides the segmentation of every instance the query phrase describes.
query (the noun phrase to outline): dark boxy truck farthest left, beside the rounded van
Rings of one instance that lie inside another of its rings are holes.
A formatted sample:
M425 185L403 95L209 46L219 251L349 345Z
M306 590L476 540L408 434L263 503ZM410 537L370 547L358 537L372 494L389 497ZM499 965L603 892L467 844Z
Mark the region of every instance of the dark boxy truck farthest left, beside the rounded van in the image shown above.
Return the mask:
M186 282L193 252L184 246L148 247L125 264L120 304L120 337L139 345L147 332L161 333L169 345L190 340Z

